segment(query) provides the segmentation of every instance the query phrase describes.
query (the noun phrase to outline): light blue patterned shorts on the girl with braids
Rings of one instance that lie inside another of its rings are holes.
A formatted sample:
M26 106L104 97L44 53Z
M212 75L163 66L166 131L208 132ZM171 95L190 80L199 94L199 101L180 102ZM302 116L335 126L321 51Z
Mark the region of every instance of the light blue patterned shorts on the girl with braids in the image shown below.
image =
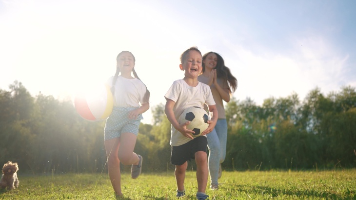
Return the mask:
M119 138L121 133L133 133L138 135L138 126L143 120L142 114L137 119L129 120L128 114L135 110L135 107L114 107L111 115L106 119L104 128L104 141Z

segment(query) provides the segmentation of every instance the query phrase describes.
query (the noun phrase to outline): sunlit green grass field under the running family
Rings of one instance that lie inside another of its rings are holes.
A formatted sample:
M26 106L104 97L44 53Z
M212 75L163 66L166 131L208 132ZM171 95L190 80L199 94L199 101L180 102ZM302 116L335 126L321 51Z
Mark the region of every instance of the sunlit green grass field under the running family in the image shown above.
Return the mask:
M114 200L107 174L19 175L20 187L0 190L4 200ZM210 200L356 200L356 169L335 171L246 171L225 172L219 190L206 192ZM121 177L123 200L174 200L174 172L143 173L137 180ZM186 196L195 200L195 172L187 171Z

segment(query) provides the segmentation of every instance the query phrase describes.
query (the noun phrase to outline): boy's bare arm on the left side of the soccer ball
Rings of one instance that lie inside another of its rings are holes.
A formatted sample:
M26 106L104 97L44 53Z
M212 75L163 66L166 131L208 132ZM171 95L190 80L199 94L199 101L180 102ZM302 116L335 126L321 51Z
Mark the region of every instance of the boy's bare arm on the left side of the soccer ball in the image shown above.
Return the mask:
M167 116L167 119L171 122L172 126L177 129L184 137L190 138L193 140L193 137L190 135L190 133L194 133L194 131L188 130L186 128L186 125L190 123L190 121L187 121L186 123L179 124L178 120L176 119L176 116L174 115L173 112L173 106L176 104L173 100L167 99L165 108L164 108L164 113Z

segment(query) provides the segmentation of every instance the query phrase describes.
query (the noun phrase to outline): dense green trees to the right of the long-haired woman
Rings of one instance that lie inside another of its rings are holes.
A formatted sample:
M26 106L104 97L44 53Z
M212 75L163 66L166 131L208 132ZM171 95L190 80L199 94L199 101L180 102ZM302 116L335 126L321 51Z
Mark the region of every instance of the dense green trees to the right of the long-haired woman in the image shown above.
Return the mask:
M312 90L300 103L297 94L226 104L227 169L310 169L355 167L355 88L327 97ZM262 165L262 166L261 166Z

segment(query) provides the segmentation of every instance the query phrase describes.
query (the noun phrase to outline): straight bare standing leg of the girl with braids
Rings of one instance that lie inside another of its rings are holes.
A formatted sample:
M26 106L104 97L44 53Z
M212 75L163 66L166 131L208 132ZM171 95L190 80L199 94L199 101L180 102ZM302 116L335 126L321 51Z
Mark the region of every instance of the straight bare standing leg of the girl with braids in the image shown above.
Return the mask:
M121 193L121 173L120 173L120 160L118 158L118 151L120 146L120 139L115 138L112 140L104 141L106 157L108 160L108 173L111 184L114 188L116 195Z

